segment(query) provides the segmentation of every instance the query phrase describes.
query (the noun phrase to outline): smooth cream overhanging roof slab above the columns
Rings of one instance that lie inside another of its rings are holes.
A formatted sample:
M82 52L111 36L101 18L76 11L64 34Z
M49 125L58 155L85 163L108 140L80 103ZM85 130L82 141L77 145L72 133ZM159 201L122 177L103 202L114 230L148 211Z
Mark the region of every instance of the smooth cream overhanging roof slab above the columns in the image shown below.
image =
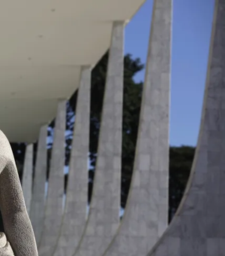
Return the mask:
M0 129L34 142L58 100L79 87L82 66L110 47L113 20L129 20L144 0L5 1L0 9Z

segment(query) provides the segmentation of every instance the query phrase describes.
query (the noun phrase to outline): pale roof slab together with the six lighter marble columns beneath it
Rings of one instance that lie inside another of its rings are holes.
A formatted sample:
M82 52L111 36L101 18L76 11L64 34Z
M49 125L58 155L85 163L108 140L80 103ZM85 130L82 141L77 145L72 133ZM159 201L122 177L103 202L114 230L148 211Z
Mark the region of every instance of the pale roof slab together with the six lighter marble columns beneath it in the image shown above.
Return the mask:
M145 256L166 229L172 0L153 1L133 181L119 220L124 26L143 2L22 0L7 2L0 10L5 49L0 58L1 130L10 142L28 143L23 190L40 256ZM108 49L98 160L86 218L91 71ZM77 89L64 208L66 100ZM45 198L46 128L54 117ZM32 181L32 143L37 139Z

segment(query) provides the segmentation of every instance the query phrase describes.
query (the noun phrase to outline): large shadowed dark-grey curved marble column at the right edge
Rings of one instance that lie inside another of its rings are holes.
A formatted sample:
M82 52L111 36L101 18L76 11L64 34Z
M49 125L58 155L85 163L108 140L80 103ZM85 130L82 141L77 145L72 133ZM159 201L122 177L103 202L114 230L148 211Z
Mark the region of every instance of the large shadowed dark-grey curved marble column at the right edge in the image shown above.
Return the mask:
M184 197L149 256L225 255L225 2L215 1L202 121Z

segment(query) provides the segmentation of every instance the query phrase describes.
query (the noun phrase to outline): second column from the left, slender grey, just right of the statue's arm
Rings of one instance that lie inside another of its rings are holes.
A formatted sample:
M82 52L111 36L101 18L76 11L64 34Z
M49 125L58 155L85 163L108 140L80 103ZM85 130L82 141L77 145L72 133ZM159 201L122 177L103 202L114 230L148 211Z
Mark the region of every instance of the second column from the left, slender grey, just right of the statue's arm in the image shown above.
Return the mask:
M44 215L44 194L46 183L46 136L47 125L40 128L37 144L37 158L34 172L34 187L31 200L31 223L34 229L37 245L40 242L40 235L43 229Z

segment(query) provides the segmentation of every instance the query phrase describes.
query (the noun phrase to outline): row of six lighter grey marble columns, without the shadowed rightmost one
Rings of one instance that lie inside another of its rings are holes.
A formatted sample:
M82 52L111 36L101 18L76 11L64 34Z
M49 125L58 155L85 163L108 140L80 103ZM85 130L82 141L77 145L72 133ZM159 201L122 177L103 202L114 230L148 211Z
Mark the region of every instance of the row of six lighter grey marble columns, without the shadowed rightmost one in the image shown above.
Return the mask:
M65 209L65 101L58 103L46 200L46 126L40 130L32 193L32 146L27 146L23 190L40 256L145 256L166 229L171 8L170 0L154 1L133 179L121 224L124 22L113 23L87 219L90 67L81 70Z

